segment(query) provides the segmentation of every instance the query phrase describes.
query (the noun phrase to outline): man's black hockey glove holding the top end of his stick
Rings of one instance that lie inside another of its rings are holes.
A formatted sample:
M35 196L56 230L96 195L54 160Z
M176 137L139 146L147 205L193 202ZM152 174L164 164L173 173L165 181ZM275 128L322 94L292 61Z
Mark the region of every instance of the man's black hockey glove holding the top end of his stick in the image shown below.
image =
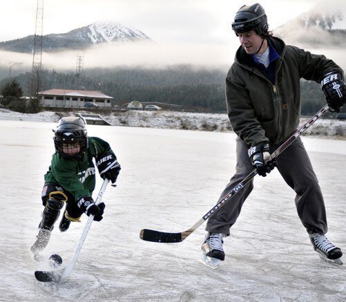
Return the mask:
M346 103L346 86L343 76L340 73L327 73L320 82L320 86L329 106L335 112L340 112L340 108Z

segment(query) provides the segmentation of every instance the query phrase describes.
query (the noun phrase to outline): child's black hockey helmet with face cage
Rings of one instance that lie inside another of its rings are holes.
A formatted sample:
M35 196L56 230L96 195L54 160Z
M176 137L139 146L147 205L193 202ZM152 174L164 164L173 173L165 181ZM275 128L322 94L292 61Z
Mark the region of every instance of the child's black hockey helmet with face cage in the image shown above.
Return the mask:
M88 138L86 126L80 117L62 117L54 134L55 151L63 158L83 158L88 147Z

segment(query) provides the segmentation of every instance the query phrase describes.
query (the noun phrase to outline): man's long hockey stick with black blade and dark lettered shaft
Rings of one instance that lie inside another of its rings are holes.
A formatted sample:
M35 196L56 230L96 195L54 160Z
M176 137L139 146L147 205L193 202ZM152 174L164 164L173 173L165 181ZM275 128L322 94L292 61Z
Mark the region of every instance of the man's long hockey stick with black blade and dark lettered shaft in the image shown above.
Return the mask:
M272 160L273 158L276 158L282 151L287 149L289 145L291 145L302 133L305 132L311 126L320 118L323 114L325 114L329 110L329 105L326 104L323 108L318 111L309 121L307 121L300 129L296 130L285 142L281 144L276 151L271 153L269 158L267 160ZM142 240L156 242L156 243L179 243L182 242L182 240L185 240L187 236L191 235L193 232L195 232L200 225L204 223L205 220L207 220L210 216L216 213L222 207L225 205L233 196L235 196L239 191L241 191L257 174L256 169L253 169L251 173L249 173L248 176L246 176L241 182L236 185L229 193L224 196L221 200L218 201L218 203L210 210L208 213L206 213L200 220L198 220L197 223L195 223L190 229L186 229L186 231L181 233L166 233L166 232L159 232L155 231L153 229L142 229L140 232L140 238Z

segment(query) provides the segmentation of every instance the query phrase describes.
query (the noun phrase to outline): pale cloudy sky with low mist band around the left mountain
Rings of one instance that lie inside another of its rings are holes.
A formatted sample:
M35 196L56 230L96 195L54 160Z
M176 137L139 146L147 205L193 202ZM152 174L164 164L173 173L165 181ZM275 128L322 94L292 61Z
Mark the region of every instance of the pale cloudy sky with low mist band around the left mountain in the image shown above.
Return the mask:
M42 0L39 0L42 1ZM327 0L322 0L327 1ZM274 29L311 9L320 0L262 0ZM17 39L35 32L37 0L0 0L0 41ZM84 55L84 66L104 64L162 64L208 62L224 64L233 59L238 39L231 30L236 11L244 0L44 0L44 35L68 32L94 21L111 20L141 30L151 37L157 48L106 49L90 53L65 53L66 66L75 68L76 55ZM105 53L106 51L106 53ZM108 51L108 52L107 52ZM32 64L30 56L0 52L0 64ZM52 65L56 57L44 55L44 64ZM121 60L120 60L121 59ZM102 61L103 60L103 61ZM119 62L119 60L121 62ZM61 66L61 64L60 64ZM19 66L16 66L19 68Z

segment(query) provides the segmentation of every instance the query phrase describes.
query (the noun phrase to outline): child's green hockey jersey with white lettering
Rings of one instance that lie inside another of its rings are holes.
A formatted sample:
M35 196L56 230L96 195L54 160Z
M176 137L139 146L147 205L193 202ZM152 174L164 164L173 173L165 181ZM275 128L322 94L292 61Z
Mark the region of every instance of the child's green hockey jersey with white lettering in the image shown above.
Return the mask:
M95 166L93 158L104 152L113 151L107 142L101 138L89 137L88 149L83 160L63 158L59 153L52 155L52 162L44 176L45 182L53 182L79 199L82 196L91 196L95 189Z

